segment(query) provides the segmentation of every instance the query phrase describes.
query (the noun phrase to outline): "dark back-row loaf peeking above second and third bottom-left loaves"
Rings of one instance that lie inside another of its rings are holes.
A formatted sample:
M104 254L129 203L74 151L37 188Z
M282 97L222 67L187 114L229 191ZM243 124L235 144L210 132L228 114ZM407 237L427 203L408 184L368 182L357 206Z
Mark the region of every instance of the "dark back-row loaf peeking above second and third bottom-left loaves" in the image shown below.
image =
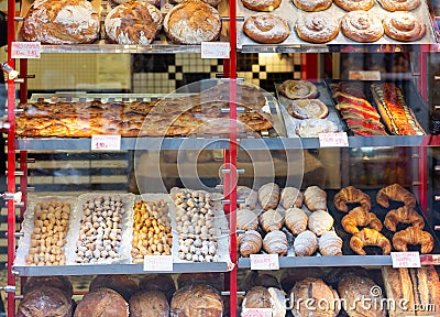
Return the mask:
M98 275L90 282L89 292L98 288L111 288L125 299L130 300L130 297L138 292L138 282L131 278L129 275Z

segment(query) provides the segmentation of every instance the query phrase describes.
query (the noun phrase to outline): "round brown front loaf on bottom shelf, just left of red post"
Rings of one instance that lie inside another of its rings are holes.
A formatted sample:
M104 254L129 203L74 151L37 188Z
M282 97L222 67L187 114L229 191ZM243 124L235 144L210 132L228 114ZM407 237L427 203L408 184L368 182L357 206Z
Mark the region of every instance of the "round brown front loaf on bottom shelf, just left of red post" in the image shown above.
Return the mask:
M219 292L202 284L188 285L177 289L170 304L170 316L175 317L221 317L223 300Z

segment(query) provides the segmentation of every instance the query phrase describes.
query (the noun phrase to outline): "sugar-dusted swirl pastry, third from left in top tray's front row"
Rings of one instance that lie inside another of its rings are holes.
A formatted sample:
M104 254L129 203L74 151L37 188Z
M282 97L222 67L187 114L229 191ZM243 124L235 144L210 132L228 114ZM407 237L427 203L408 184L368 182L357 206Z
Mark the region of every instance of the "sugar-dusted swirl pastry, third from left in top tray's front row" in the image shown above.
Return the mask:
M351 11L341 20L342 33L356 42L376 42L384 35L384 26L378 17L366 11Z

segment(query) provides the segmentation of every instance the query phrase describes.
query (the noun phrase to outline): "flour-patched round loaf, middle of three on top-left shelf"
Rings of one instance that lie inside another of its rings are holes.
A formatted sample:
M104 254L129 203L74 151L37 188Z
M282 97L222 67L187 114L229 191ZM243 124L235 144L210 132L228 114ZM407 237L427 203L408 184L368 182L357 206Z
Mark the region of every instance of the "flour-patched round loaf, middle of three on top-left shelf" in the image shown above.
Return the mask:
M161 11L153 4L130 1L114 7L106 17L108 41L124 45L146 45L162 29Z

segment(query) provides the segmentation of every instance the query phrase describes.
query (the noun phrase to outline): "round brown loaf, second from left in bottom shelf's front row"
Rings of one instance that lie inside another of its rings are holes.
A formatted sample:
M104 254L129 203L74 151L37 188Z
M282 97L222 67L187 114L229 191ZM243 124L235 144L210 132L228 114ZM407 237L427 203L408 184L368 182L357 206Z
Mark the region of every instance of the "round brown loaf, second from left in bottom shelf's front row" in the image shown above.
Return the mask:
M110 288L98 288L84 295L74 317L129 317L129 304Z

